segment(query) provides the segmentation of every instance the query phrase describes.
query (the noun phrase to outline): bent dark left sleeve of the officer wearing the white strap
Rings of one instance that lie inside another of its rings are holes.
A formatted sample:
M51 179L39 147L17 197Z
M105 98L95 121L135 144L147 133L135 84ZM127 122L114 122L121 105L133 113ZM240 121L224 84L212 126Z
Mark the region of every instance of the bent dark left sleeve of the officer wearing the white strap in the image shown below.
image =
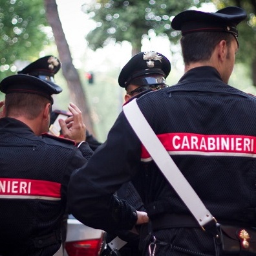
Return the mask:
M72 173L68 200L74 217L111 233L131 229L137 220L136 210L114 192L139 171L140 153L140 141L121 113L105 144Z

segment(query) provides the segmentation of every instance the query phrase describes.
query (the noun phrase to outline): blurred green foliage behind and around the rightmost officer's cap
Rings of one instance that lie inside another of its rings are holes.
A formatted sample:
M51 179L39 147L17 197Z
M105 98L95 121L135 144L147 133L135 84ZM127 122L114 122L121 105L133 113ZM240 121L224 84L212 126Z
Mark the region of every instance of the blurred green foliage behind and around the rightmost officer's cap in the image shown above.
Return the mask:
M156 36L168 36L177 43L180 32L171 28L173 16L191 8L200 7L204 3L213 3L217 9L226 6L240 6L248 12L248 21L239 25L240 50L238 61L251 64L256 58L256 17L255 1L239 0L94 0L91 5L83 5L83 11L96 21L96 28L88 36L89 47L93 50L103 47L110 40L129 41L135 52L140 51L142 37L149 36L153 30ZM250 52L250 54L248 54Z

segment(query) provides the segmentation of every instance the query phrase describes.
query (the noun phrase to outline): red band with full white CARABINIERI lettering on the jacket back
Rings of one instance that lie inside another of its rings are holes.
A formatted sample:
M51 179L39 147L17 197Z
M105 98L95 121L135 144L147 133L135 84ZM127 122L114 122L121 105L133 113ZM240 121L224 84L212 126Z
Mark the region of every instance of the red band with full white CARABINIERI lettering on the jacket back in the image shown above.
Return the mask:
M165 133L157 136L170 155L256 157L256 136L197 133ZM141 160L152 160L144 145Z

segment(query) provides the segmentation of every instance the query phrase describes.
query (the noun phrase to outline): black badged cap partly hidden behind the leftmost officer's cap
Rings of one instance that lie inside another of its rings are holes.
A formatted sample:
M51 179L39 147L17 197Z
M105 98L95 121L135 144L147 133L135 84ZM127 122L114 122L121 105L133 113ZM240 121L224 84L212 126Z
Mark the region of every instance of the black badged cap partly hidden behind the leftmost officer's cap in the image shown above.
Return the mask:
M59 85L57 85L54 81L54 75L59 71L60 68L61 62L59 59L49 55L30 63L23 70L19 70L17 74L36 76L36 78L45 80L53 87L56 87L56 89L62 91L61 87L59 87Z

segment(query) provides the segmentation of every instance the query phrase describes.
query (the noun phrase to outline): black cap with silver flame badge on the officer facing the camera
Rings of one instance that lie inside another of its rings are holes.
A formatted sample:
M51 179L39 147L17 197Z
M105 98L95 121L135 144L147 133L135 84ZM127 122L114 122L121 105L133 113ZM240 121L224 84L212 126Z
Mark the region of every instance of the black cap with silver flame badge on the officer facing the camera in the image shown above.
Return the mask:
M126 88L130 83L135 85L157 85L165 83L171 71L171 63L159 52L147 51L134 55L123 67L118 83Z

